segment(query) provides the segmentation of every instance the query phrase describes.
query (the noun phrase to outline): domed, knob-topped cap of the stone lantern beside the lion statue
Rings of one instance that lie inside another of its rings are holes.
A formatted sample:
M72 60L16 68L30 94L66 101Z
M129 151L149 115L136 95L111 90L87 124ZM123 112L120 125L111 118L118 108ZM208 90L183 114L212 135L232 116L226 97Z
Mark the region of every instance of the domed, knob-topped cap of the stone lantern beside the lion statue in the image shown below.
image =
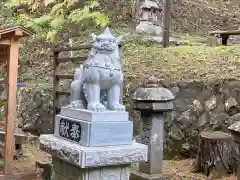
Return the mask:
M155 77L151 77L145 87L138 88L133 95L134 101L166 102L174 99L172 92L166 88L160 87Z

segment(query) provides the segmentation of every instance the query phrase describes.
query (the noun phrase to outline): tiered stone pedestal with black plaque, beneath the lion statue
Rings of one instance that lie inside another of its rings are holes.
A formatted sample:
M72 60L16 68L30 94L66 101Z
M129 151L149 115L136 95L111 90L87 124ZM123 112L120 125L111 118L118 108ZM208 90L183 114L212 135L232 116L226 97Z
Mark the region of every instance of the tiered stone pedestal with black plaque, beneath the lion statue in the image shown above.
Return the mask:
M132 142L127 112L63 108L55 132L40 136L53 156L51 180L128 180L130 164L147 160L147 146Z

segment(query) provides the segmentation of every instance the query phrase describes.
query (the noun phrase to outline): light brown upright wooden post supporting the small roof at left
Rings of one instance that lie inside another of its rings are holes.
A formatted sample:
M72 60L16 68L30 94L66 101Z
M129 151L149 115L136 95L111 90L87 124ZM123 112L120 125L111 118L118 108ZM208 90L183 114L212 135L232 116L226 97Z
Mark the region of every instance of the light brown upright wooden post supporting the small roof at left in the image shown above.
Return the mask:
M14 155L14 131L16 119L16 93L19 39L11 38L10 58L8 63L8 107L6 116L6 136L4 155L4 174L12 175Z

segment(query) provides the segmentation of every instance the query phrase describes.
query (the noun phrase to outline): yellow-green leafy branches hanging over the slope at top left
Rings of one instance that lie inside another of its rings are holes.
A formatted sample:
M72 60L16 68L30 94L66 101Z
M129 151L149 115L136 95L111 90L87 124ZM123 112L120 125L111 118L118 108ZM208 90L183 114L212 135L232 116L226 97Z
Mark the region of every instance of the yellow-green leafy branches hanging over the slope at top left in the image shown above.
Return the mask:
M27 6L27 10L15 13L15 21L31 27L50 42L70 24L83 28L105 27L108 17L97 10L99 2L88 0L84 8L78 8L78 0L11 0L8 7ZM36 17L37 16L37 17Z

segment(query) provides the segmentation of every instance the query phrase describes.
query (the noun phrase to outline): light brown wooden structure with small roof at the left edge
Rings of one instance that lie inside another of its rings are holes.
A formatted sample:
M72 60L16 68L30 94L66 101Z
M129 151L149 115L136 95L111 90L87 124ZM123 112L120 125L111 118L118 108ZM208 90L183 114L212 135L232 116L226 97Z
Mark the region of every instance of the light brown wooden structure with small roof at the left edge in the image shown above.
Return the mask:
M4 135L4 171L0 179L27 180L28 175L13 175L13 155L15 147L14 132L16 132L16 96L17 96L17 76L18 76L18 53L19 41L21 37L30 36L32 32L23 27L13 27L0 30L0 64L6 65L7 79L1 80L0 84L5 84L8 89L7 99L0 103L6 109L6 122L1 122L0 126L5 128L1 134ZM19 130L17 130L19 131Z

